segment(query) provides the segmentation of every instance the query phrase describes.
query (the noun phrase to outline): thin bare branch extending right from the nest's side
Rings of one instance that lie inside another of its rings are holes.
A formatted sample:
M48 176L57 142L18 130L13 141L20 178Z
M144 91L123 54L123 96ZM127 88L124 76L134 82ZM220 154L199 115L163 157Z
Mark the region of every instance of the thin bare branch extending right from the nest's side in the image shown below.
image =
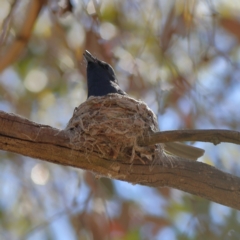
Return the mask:
M221 129L163 131L151 133L140 143L147 146L156 143L183 141L211 142L214 145L221 142L240 144L240 132Z

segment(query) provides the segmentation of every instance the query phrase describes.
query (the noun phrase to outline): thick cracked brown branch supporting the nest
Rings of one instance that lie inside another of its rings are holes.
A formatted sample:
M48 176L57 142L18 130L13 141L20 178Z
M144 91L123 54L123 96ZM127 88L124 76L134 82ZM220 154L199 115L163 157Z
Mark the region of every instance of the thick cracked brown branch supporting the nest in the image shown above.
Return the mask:
M66 131L17 115L0 111L0 126L2 150L94 171L135 184L173 187L240 210L240 178L207 164L181 160L155 166L150 171L147 165L133 164L131 167L131 163L126 161L100 158L94 153L86 156L70 147Z

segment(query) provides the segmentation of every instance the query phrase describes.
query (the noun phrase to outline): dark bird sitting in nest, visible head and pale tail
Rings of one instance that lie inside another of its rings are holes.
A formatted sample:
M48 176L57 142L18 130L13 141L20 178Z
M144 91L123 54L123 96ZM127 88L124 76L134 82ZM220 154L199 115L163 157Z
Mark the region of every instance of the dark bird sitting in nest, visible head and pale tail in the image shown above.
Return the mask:
M120 88L116 74L110 64L94 57L87 50L85 50L83 56L87 62L88 98L91 96L106 96L111 93L127 95L127 93ZM179 142L169 142L161 145L168 154L188 160L197 160L205 152L201 148Z

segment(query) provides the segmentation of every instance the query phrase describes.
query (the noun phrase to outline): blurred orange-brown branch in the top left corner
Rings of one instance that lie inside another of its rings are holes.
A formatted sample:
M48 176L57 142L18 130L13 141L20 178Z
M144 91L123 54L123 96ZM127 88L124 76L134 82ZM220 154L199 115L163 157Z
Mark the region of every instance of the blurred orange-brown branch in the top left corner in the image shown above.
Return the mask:
M44 4L45 0L30 1L29 7L26 10L26 19L23 23L22 29L17 34L17 37L12 45L8 47L5 54L0 58L0 72L11 65L22 52L31 36L35 21Z

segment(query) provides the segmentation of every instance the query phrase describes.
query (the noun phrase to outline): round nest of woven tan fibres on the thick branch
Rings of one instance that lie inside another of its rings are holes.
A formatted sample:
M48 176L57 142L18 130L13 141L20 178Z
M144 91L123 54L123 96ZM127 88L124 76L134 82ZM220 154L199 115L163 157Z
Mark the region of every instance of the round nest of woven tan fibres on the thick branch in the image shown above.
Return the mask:
M66 130L74 149L108 159L153 163L156 153L162 152L160 145L137 144L144 135L157 131L158 124L144 102L128 96L90 97L75 108Z

